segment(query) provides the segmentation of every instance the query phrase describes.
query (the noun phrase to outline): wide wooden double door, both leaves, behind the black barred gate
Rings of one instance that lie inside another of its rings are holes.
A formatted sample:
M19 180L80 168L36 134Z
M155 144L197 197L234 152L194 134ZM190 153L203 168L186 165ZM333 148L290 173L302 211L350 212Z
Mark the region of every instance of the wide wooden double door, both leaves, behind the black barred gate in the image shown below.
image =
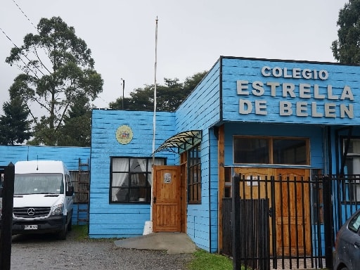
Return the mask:
M272 255L309 255L311 250L309 169L239 167L243 199L269 198ZM281 175L282 181L279 181ZM267 176L267 181L264 181ZM274 176L275 181L271 181ZM289 176L289 181L286 181ZM294 181L296 176L297 181ZM303 176L304 181L301 181ZM271 184L274 186L271 187ZM273 226L274 224L274 226ZM275 245L274 245L275 243Z

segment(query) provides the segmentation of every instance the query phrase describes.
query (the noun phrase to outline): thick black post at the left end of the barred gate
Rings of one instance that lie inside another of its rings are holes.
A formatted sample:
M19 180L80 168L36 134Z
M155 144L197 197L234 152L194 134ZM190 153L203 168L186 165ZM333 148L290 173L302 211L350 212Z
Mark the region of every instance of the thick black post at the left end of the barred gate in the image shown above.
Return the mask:
M240 258L240 176L233 176L231 227L233 229L233 270L241 269Z

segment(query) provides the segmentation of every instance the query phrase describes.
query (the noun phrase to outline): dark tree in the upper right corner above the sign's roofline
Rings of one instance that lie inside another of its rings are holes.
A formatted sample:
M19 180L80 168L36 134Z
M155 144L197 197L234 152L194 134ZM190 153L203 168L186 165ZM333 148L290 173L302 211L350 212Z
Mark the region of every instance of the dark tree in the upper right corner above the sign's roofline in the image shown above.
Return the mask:
M338 39L333 41L333 56L340 63L360 63L360 0L349 0L339 12Z

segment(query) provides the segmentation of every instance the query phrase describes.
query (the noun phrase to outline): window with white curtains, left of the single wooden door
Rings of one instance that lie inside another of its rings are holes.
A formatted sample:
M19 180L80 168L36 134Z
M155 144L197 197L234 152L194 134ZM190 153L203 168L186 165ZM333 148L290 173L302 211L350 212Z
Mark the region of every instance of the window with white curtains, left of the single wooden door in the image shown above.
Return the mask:
M150 203L153 158L110 158L110 203ZM165 165L155 158L155 165Z

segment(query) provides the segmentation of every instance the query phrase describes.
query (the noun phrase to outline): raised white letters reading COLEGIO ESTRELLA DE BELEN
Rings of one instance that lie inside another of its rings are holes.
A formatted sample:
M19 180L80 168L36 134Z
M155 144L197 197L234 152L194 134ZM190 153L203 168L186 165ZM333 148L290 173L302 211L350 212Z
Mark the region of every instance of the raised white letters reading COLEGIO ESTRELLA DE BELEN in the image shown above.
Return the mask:
M311 70L309 68L281 68L264 66L261 69L264 77L283 77L292 79L320 79L329 77L327 70ZM354 118L354 105L352 103L339 103L339 101L354 101L354 95L350 86L345 85L342 89L333 89L328 84L325 91L320 90L319 84L301 82L262 82L239 79L236 82L238 96L255 96L251 101L248 98L239 99L239 113L241 115L267 115L267 101L262 96L271 98L286 98L286 101L278 101L278 114L281 116L295 115L298 117L327 117ZM323 89L323 86L322 86ZM301 99L292 103L293 98ZM289 101L290 100L290 101ZM312 101L311 101L312 100ZM315 101L314 101L315 100ZM322 102L317 102L322 101ZM337 101L337 103L334 103Z

